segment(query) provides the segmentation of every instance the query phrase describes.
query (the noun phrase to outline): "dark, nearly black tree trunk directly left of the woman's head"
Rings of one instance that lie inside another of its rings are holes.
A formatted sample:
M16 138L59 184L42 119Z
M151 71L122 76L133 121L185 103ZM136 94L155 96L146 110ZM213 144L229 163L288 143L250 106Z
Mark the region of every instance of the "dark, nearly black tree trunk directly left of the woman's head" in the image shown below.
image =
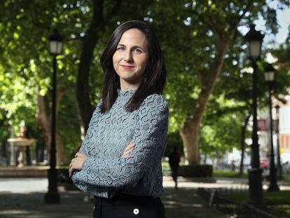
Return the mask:
M98 41L98 33L103 29L103 1L94 1L92 22L85 32L82 41L81 62L76 79L76 102L79 118L81 119L81 138L88 130L90 118L94 111L90 103L89 75L93 52Z

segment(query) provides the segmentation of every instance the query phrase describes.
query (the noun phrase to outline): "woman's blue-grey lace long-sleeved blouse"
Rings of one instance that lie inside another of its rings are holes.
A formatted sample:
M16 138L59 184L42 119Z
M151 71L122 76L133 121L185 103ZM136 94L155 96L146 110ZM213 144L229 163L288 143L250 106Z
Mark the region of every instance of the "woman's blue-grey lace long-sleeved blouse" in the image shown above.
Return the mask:
M106 114L102 100L92 114L80 153L88 158L74 172L74 184L95 196L111 198L117 192L139 196L163 196L161 158L167 145L169 111L163 95L146 97L139 109L127 112L125 104L134 90L118 90L116 102ZM130 142L136 146L121 158Z

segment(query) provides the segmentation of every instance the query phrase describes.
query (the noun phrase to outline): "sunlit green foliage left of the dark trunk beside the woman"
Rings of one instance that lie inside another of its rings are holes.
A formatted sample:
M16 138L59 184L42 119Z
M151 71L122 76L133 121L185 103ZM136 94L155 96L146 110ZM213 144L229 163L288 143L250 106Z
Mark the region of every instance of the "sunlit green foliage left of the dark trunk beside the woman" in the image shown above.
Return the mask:
M57 27L64 36L63 55L57 57L57 86L64 93L72 90L59 107L64 110L58 116L59 129L67 152L78 147L79 124L73 88L81 48L77 38L88 26L91 14L88 6L85 1L1 1L0 50L4 55L0 57L0 111L6 121L1 132L8 135L8 125L18 132L20 123L25 121L27 126L34 126L32 137L38 139L38 146L44 146L43 132L36 122L36 94L46 95L51 102L53 64L48 36ZM70 113L72 109L74 114ZM69 127L63 128L64 121Z

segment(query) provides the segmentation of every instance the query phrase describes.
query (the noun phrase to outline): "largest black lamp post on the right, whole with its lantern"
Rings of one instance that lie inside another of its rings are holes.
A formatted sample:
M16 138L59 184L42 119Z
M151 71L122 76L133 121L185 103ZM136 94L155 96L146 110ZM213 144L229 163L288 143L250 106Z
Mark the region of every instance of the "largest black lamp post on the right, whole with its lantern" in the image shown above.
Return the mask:
M257 122L257 64L260 59L264 35L256 31L255 25L250 26L249 32L244 36L247 41L249 58L253 67L252 81L252 112L253 131L251 134L251 169L249 170L249 198L255 207L265 207L263 201L262 171L260 168L260 155L258 145L258 122Z

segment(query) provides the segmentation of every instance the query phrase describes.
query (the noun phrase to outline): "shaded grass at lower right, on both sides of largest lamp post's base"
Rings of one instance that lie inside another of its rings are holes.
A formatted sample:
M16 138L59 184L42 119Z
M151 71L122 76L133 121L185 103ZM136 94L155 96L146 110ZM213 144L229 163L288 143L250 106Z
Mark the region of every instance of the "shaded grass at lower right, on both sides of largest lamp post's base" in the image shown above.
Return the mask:
M248 193L220 193L221 198L247 203ZM277 217L290 217L290 191L264 192L267 212Z

